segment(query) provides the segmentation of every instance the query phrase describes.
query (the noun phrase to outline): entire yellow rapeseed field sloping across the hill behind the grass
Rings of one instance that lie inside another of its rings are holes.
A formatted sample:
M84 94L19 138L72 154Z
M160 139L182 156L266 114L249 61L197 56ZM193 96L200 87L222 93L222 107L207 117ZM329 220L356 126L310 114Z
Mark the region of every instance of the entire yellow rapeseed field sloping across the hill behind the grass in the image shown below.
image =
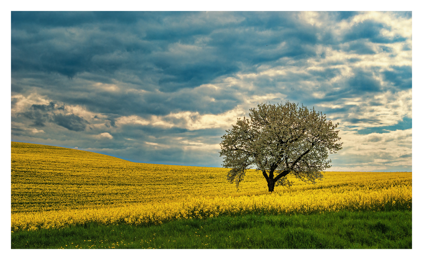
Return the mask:
M247 172L239 190L228 169L143 164L69 148L11 142L11 230L72 224L159 224L220 214L294 214L412 208L411 172L325 172L267 192Z

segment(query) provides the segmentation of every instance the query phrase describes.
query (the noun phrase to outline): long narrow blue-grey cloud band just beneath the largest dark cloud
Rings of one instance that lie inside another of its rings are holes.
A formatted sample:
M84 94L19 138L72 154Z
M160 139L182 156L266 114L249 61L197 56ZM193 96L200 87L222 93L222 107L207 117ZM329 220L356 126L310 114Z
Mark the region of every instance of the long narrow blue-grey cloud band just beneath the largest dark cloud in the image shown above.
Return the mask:
M66 104L79 104L90 111L101 114L114 114L114 118L122 115L167 115L170 112L198 111L218 114L236 106L235 100L228 100L227 90L212 93L206 90L181 90L177 93L108 93L97 90L82 90L83 95L74 92L55 92L49 96ZM216 101L206 99L213 96ZM212 104L211 104L212 103ZM108 116L110 124L113 118Z

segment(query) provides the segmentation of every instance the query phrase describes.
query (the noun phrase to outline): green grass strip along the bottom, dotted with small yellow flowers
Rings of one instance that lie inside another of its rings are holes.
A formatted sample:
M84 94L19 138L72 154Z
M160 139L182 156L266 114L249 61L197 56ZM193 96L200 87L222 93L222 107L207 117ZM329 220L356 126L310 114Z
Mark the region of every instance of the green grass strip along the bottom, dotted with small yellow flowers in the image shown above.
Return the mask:
M15 231L12 249L411 249L412 211L219 216Z

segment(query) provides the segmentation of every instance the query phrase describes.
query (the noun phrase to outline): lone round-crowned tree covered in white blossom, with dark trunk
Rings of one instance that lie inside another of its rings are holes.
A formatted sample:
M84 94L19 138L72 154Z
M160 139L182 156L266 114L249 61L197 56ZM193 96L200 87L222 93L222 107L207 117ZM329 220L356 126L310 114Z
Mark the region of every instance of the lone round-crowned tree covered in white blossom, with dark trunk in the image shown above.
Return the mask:
M232 168L228 181L244 179L247 169L255 165L266 178L269 192L275 186L291 186L287 175L316 183L321 171L331 167L326 161L328 151L336 153L342 143L335 125L321 112L286 101L285 105L261 104L250 109L250 120L237 118L236 125L222 136L220 143L225 156L222 166ZM276 177L275 177L276 176Z

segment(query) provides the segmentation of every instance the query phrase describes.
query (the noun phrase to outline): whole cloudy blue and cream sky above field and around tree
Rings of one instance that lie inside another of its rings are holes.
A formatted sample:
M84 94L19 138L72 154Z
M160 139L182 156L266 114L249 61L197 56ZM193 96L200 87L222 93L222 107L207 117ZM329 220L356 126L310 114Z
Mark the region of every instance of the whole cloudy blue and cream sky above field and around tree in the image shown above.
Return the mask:
M12 12L11 140L220 167L257 104L339 122L329 170L412 170L411 12Z

